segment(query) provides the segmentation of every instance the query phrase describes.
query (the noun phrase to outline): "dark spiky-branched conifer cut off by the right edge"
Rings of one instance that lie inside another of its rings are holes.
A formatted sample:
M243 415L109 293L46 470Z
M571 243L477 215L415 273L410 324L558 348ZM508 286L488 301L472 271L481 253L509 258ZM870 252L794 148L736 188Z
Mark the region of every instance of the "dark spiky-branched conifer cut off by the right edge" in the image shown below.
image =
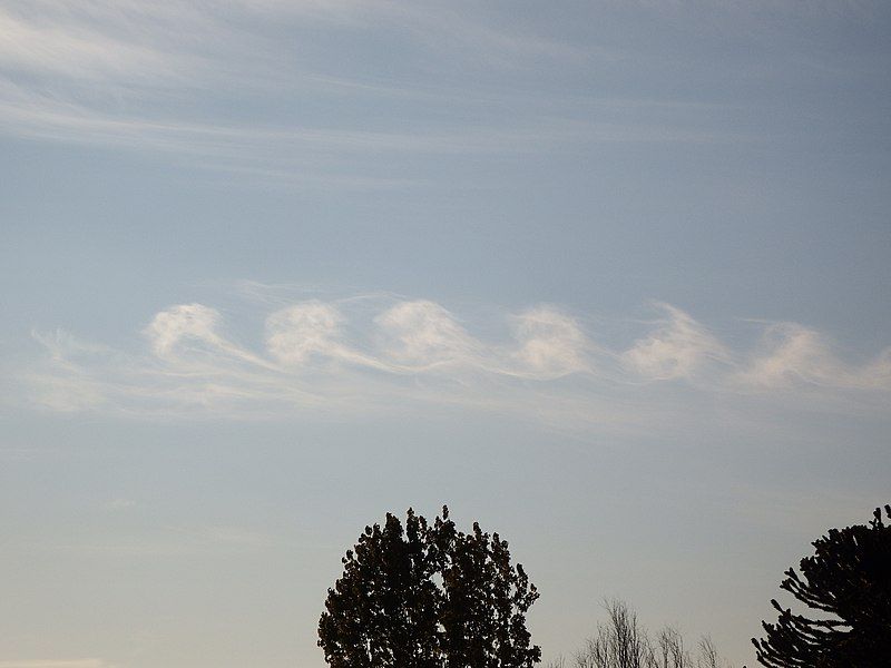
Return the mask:
M891 519L891 507L884 507ZM793 615L775 600L776 623L762 622L766 638L752 642L768 668L885 668L891 665L891 524L879 508L872 521L831 529L815 540L801 576L790 568L780 584L819 611Z

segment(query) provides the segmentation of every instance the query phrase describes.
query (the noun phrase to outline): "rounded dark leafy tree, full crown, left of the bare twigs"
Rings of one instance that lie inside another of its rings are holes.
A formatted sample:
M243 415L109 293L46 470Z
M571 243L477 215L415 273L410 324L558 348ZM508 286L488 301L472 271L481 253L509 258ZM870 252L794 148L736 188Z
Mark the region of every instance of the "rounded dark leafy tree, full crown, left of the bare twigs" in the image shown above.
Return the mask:
M408 511L365 527L327 591L319 646L333 668L531 668L526 612L538 598L507 541L430 525Z

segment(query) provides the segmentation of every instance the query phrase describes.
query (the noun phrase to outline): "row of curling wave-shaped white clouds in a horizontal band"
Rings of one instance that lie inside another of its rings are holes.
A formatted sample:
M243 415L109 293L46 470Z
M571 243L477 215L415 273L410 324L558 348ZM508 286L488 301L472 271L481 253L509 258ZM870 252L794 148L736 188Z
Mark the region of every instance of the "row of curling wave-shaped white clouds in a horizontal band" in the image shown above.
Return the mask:
M31 403L53 411L232 418L421 402L600 420L639 410L629 402L644 393L657 401L659 387L665 396L773 400L865 393L881 405L891 396L891 347L849 364L825 335L770 323L753 351L738 351L676 306L653 307L659 316L638 323L643 335L608 347L548 304L499 318L505 334L491 340L473 332L492 323L468 322L429 299L302 299L267 313L252 348L228 333L216 308L180 304L151 318L141 351L36 334L45 354L21 377Z

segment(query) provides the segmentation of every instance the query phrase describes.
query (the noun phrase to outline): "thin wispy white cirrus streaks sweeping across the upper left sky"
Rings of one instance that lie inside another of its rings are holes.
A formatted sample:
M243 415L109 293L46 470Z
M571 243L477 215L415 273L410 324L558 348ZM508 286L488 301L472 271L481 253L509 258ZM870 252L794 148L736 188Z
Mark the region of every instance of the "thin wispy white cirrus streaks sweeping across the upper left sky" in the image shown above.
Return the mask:
M294 40L283 40L282 26L303 36L297 41L310 45L305 53L292 52ZM706 126L667 122L663 114L634 122L615 110L595 118L587 107L555 114L550 96L527 96L518 104L505 91L438 84L431 72L412 68L379 79L312 56L324 51L311 48L320 32L343 31L385 38L430 62L467 59L487 70L535 66L542 58L578 63L593 57L481 8L341 0L219 6L16 0L0 8L6 37L0 43L0 132L147 153L264 186L353 190L419 185L411 169L382 171L381 156L461 159L575 151L599 143L726 140L726 134ZM283 99L290 100L284 107ZM371 109L382 100L399 104L373 122L300 111L322 100L332 109L349 107L344 101ZM405 100L413 101L401 114ZM492 104L510 109L509 117L492 116ZM642 101L629 104L638 108ZM443 120L444 107L454 109L456 118L472 120ZM574 107L566 105L567 110ZM254 112L238 111L243 108Z

